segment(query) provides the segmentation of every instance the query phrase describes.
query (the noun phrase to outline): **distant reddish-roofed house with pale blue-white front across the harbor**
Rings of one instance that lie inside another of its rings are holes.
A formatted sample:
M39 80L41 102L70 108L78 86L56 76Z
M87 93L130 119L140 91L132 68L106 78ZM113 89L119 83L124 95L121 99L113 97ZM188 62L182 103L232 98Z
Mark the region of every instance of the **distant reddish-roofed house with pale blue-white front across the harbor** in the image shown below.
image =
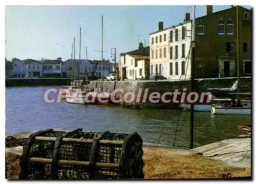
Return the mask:
M42 76L43 77L60 77L61 65L55 61L45 61L42 64Z

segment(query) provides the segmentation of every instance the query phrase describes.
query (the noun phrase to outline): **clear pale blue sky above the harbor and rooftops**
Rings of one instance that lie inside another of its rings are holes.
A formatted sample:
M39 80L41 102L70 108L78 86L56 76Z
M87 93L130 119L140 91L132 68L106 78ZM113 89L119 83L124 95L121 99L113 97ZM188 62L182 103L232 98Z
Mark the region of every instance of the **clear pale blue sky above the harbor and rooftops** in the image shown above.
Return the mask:
M103 58L111 58L111 48L119 54L138 48L139 41L149 45L148 34L183 21L192 6L6 6L6 58L71 58L75 37L75 58L101 60L101 16L103 15ZM243 6L250 9L250 6ZM213 12L229 6L213 6ZM205 15L204 6L196 6L196 17Z

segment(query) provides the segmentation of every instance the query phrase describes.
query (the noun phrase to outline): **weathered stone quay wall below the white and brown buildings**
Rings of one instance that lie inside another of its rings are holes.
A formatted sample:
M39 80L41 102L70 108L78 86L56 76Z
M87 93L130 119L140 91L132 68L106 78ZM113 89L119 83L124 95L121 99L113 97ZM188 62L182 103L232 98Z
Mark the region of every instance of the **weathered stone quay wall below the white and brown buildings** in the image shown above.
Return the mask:
M207 88L226 88L231 87L237 78L215 78L215 79L196 79L195 85L199 93L206 92ZM251 78L250 77L241 77L240 91L241 93L251 92ZM103 84L102 84L103 83ZM168 81L168 80L137 80L137 81L90 81L90 89L99 88L103 85L103 91L112 93L115 89L123 89L123 92L118 91L117 94L120 97L120 105L127 106L131 108L141 108L141 107L161 107L169 108L170 103L163 103L161 100L159 103L151 103L148 100L148 96L153 92L158 92L160 95L165 92L174 92L175 89L182 91L183 88L187 88L187 92L190 91L190 81ZM148 88L146 101L142 103L145 89ZM139 89L142 89L141 92ZM123 100L123 96L126 93L132 92L135 94L135 100L131 103L126 103ZM136 99L139 99L139 102L136 102ZM168 96L165 98L168 99ZM171 108L178 108L178 103L172 103Z

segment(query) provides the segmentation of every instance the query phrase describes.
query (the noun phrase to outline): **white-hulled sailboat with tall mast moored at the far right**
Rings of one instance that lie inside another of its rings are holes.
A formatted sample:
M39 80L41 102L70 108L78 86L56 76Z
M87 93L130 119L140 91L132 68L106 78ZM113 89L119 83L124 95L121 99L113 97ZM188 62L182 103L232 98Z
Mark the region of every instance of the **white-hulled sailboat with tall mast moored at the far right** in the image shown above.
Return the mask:
M211 113L212 114L232 114L232 115L251 115L251 101L250 100L242 100L241 96L245 95L243 93L239 93L239 86L240 86L240 63L239 63L239 21L238 21L238 6L237 6L237 68L238 68L238 93L233 93L232 95L237 95L238 98L235 103L229 106L211 106ZM247 94L246 94L247 95Z

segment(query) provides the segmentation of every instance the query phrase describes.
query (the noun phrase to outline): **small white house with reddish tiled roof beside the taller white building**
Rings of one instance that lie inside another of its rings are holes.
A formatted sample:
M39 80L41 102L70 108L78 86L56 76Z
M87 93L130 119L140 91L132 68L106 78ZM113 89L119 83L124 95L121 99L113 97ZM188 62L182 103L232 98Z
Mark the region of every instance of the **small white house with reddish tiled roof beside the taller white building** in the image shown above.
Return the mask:
M143 47L143 44L139 43L137 50L121 53L119 60L119 73L123 79L139 79L147 78L150 74L150 47Z

